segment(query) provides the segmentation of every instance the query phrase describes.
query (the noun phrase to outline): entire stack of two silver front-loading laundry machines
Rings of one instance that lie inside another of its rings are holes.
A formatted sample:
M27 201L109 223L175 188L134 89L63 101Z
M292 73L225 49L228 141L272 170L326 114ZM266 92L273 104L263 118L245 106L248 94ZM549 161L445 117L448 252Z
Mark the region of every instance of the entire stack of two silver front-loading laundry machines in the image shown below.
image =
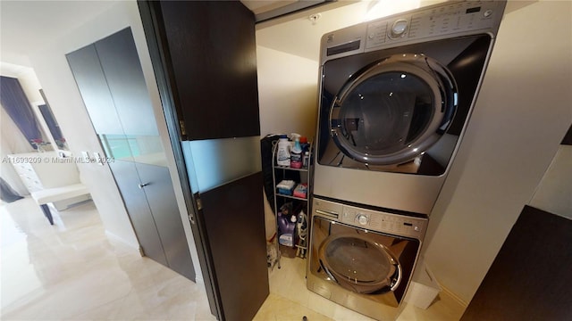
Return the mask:
M505 4L435 4L322 37L310 291L399 315Z

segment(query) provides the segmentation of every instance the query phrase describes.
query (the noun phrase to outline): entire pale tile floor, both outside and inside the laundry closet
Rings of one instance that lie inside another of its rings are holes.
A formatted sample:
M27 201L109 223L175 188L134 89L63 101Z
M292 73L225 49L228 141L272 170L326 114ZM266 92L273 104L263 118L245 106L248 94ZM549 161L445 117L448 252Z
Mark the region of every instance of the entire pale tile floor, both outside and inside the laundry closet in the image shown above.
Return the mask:
M0 224L2 320L215 320L201 284L108 239L93 202L59 212L55 226L29 198L3 203ZM255 320L371 320L307 291L305 263L283 258L269 271ZM463 310L442 293L398 320L453 321Z

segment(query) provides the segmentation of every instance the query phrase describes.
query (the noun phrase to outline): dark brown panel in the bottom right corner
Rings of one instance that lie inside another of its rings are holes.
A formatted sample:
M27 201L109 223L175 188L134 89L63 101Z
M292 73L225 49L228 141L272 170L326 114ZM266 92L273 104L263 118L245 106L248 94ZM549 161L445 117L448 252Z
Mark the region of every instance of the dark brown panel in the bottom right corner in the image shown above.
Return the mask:
M461 318L572 320L572 220L525 206Z

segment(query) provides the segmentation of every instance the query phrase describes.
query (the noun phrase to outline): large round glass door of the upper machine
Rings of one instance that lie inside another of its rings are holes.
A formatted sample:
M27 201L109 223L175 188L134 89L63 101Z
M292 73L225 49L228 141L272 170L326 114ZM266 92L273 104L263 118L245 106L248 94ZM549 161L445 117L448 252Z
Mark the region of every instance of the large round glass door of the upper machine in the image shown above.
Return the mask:
M330 111L330 132L351 159L395 165L435 144L456 108L456 83L440 62L423 54L392 55L341 87Z

